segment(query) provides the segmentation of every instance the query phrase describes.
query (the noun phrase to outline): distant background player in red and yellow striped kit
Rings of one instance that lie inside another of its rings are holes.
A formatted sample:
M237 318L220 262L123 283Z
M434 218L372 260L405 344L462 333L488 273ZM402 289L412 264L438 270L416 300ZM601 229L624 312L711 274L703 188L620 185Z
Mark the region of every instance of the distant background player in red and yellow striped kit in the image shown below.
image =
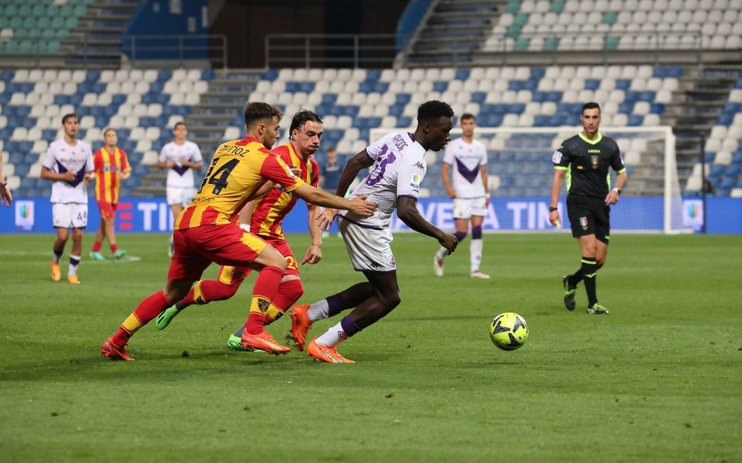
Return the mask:
M126 152L116 146L119 137L116 130L107 128L103 132L105 145L93 153L93 165L95 165L95 199L100 211L100 225L95 235L95 243L91 251L91 257L95 260L105 260L100 253L103 239L108 239L111 253L118 260L126 254L124 249L116 245L116 207L119 206L119 191L121 181L131 175Z

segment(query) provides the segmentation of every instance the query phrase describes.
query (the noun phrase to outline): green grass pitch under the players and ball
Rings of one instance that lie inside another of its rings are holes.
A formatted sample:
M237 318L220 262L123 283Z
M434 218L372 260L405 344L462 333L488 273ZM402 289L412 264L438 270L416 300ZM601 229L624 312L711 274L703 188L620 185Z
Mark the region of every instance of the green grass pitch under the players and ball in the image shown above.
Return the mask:
M52 241L0 236L3 462L742 461L742 237L614 235L598 273L611 314L593 316L582 286L562 305L580 259L566 234L485 235L490 280L468 278L468 242L436 278L437 243L397 234L402 303L341 345L354 365L226 349L254 277L108 361L102 342L165 283L166 237L121 234L141 260L98 263L88 234L79 286L68 253L50 280ZM291 241L301 257L308 237ZM303 302L362 278L324 242ZM487 325L510 311L531 334L502 352Z

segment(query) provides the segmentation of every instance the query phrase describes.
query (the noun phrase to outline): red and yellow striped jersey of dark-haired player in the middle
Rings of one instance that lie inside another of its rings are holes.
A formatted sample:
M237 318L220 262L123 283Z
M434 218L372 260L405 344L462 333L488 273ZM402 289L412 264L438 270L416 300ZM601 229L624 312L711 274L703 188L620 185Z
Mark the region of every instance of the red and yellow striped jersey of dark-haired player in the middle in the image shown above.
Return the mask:
M280 145L273 150L289 167L301 168L301 180L316 187L319 182L319 165L313 157L305 162L301 154L297 154L291 142ZM283 188L273 188L265 196L255 201L252 211L250 231L261 237L283 238L283 217L286 217L296 204L298 197Z

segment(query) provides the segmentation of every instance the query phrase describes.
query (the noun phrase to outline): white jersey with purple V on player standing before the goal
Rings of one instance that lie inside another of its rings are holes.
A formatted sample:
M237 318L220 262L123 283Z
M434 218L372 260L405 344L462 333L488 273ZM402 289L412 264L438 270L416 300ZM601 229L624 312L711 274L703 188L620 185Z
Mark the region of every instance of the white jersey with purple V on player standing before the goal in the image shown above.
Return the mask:
M450 142L443 155L443 162L453 165L453 189L456 197L471 199L485 196L485 185L479 168L487 165L487 148L481 142L464 142L457 138Z

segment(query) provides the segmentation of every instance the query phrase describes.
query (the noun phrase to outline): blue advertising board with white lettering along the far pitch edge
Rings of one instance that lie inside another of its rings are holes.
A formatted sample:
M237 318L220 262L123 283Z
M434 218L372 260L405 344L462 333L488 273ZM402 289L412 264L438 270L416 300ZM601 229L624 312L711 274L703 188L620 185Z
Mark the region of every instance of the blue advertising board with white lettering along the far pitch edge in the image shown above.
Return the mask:
M562 230L569 230L564 197L559 203ZM700 231L703 223L703 203L697 199L683 200L683 214L689 228ZM483 229L485 231L551 231L557 230L548 221L549 201L544 197L492 198ZM742 234L742 198L706 198L706 231L713 234ZM611 207L611 224L615 231L662 231L662 197L624 197ZM420 198L418 209L431 223L444 230L455 229L453 203L448 198ZM306 232L306 207L302 204L283 222L287 233ZM167 232L174 220L165 198L122 198L116 213L116 233ZM88 232L100 223L97 203L88 203ZM335 229L336 229L335 225ZM407 230L396 216L394 230ZM13 207L0 207L0 233L52 233L51 204L42 198L15 198Z

